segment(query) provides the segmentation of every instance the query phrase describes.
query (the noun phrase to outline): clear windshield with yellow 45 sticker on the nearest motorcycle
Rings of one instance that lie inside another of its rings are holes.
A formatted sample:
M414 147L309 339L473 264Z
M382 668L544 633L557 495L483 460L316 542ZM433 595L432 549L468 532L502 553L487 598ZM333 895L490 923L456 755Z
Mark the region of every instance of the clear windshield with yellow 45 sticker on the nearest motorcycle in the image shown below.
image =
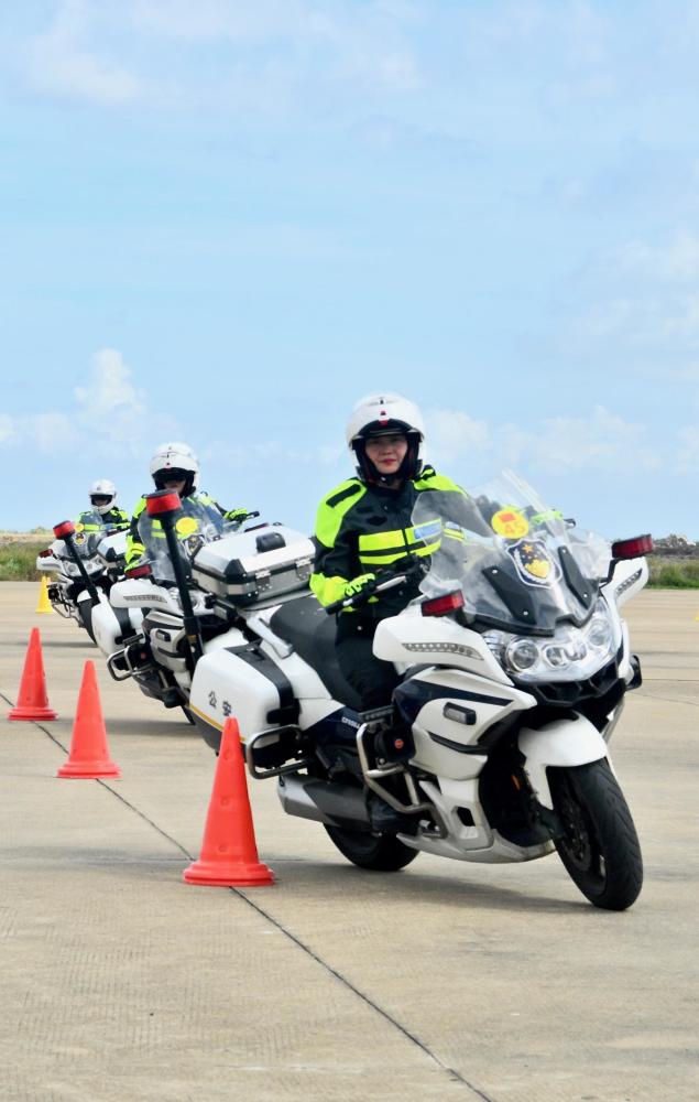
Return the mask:
M607 540L566 520L510 471L467 499L423 491L413 525L425 542L438 541L423 596L460 591L471 622L518 635L583 624L609 570Z

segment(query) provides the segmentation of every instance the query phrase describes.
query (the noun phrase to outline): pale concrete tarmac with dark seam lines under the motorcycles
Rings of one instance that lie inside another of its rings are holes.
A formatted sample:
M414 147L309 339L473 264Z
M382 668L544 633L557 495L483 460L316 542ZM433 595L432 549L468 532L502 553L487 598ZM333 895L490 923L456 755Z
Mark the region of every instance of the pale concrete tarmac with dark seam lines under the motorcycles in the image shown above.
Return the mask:
M699 592L625 606L623 914L554 854L354 868L249 780L272 887L192 887L215 757L85 631L0 585L0 1100L697 1102ZM58 720L8 722L32 627ZM120 780L61 780L94 659Z

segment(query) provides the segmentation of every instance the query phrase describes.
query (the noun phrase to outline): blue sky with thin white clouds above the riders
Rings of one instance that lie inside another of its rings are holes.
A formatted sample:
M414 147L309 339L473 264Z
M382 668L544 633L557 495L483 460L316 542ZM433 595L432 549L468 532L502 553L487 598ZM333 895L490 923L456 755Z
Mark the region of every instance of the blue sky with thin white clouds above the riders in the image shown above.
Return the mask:
M185 440L307 529L362 395L609 537L699 539L699 2L0 11L0 527Z

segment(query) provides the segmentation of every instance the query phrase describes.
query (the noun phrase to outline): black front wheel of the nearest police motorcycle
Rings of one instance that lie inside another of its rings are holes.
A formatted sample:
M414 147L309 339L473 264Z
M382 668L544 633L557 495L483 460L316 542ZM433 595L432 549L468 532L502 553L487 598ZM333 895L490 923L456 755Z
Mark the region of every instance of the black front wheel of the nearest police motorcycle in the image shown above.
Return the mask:
M643 860L629 806L609 763L550 768L548 781L563 824L556 849L566 872L596 907L631 907L643 884Z

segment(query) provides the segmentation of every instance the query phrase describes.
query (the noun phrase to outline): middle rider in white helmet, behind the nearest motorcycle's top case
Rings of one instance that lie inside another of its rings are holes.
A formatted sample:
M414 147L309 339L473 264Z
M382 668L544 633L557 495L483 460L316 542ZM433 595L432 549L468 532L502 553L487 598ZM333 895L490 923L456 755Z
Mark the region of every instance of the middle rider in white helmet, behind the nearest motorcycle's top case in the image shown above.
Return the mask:
M170 489L179 494L184 512L205 511L218 523L222 520L242 520L248 515L247 509L226 510L208 494L197 491L199 461L188 444L179 441L161 444L151 458L150 473L156 489ZM139 531L139 521L144 514L146 503L145 497L141 497L133 510L127 537L127 570L133 569L145 553L142 533ZM155 519L150 523L153 536L164 539L161 522Z

